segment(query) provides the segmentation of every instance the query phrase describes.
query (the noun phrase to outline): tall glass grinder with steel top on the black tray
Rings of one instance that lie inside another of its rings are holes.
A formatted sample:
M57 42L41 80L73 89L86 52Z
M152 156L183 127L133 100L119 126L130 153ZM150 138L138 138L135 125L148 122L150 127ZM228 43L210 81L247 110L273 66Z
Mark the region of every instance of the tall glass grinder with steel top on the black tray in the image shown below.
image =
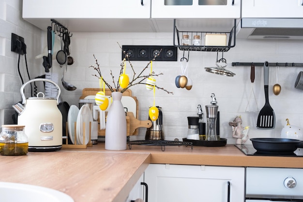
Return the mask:
M217 123L217 113L219 106L217 106L217 100L215 98L214 93L212 93L211 97L212 97L211 105L205 106L206 118L208 124L207 135L205 140L218 141L217 132L216 132L216 123Z

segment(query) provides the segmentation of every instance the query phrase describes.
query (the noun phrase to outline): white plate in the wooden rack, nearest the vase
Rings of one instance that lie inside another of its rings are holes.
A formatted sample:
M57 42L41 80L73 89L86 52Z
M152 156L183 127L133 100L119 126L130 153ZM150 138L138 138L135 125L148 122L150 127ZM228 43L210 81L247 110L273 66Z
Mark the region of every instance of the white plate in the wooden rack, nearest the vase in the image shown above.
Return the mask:
M83 105L78 113L77 117L77 142L83 144L83 128L85 123L85 144L90 140L90 122L92 127L92 114L91 109L87 105ZM92 131L92 128L91 128Z

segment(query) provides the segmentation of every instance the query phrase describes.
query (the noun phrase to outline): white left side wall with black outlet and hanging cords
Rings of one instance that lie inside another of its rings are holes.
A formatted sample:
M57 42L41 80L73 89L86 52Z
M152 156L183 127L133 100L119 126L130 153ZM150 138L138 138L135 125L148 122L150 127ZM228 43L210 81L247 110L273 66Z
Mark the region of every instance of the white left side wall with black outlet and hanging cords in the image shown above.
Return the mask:
M0 126L12 124L12 105L20 101L22 85L17 71L18 54L11 51L11 37L15 33L25 39L30 78L42 73L41 61L34 60L42 48L40 29L22 19L21 0L0 0ZM28 81L25 56L20 58L20 72Z

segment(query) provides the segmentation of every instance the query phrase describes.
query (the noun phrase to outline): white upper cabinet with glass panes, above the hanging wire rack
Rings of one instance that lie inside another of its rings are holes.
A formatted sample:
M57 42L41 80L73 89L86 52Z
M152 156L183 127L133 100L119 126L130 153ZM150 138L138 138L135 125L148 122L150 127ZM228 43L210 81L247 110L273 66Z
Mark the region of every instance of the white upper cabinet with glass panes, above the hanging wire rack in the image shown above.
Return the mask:
M152 0L152 18L241 17L241 0Z

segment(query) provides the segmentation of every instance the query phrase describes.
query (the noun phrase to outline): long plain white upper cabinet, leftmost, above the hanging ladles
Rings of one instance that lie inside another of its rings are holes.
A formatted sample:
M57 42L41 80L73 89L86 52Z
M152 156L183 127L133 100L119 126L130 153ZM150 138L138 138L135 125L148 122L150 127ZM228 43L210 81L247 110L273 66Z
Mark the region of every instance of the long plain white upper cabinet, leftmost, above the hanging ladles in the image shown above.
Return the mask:
M23 0L24 18L150 18L151 0Z

